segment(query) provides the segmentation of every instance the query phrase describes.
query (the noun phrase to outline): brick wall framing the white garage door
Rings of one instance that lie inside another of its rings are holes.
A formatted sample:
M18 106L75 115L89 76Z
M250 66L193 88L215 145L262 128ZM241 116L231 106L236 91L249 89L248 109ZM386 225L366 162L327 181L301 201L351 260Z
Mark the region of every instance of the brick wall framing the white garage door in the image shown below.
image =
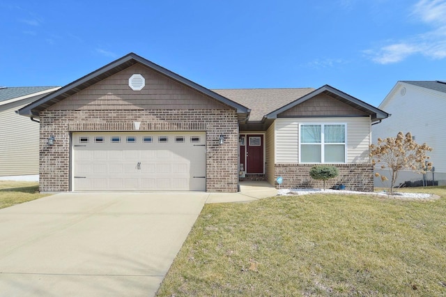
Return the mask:
M40 191L70 190L70 132L205 130L206 190L238 190L238 121L233 110L52 110L40 113ZM47 139L54 136L54 146ZM219 144L224 135L224 144Z

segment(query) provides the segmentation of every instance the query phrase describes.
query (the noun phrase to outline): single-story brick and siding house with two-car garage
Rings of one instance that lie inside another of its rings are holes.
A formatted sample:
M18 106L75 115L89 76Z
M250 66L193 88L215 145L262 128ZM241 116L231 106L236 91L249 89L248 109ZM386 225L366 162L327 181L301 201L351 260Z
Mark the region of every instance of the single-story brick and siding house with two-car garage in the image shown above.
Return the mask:
M314 164L371 191L371 123L388 116L327 85L211 91L133 53L19 112L40 119L43 192L320 186Z

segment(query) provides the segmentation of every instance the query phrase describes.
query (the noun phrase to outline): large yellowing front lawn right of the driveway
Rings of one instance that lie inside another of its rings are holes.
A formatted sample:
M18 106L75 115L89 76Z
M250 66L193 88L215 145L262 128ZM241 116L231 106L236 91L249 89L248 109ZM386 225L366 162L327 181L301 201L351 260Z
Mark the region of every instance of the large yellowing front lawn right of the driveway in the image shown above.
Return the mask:
M445 296L446 188L206 204L157 296Z

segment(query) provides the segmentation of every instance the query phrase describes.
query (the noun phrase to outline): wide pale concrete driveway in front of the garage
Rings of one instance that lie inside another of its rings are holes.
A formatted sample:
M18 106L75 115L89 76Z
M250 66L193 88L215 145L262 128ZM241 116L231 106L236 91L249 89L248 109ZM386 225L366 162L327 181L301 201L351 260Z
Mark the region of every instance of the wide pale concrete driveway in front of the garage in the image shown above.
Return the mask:
M0 296L153 296L206 192L61 193L0 210Z

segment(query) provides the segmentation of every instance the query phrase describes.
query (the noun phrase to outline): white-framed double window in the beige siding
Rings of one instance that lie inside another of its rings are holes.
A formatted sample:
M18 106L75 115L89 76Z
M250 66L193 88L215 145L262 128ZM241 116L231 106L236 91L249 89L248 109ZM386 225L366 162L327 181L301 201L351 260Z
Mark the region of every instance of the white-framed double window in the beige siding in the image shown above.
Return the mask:
M300 162L345 163L346 124L300 125Z

